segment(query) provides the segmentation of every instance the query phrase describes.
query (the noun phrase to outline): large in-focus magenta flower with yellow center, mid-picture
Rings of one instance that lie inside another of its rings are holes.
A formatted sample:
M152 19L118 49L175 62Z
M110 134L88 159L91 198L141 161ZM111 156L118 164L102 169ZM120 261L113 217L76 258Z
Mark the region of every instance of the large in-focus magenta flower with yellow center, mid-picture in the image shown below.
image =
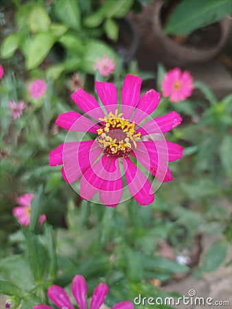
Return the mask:
M148 205L154 201L149 172L160 183L170 181L173 178L166 162L182 156L183 148L163 137L181 123L181 117L173 111L152 119L149 115L158 106L160 94L151 89L140 98L141 78L137 76L126 76L121 104L117 104L114 84L95 82L95 87L104 108L83 89L73 93L71 98L86 114L70 111L58 116L58 126L79 133L74 141L68 133L69 141L50 152L49 163L63 165L67 183L80 179L80 196L88 201L99 192L100 203L113 207L121 196L125 201L129 192L138 203ZM76 141L80 132L83 134ZM91 139L86 132L95 136ZM142 137L150 135L152 140L143 141Z

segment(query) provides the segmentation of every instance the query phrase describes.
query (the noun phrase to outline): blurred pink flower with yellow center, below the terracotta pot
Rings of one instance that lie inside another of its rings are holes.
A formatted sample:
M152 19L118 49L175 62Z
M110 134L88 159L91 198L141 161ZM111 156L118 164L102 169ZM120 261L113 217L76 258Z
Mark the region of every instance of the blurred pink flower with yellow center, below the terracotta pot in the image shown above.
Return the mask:
M161 84L164 97L170 97L172 102L179 102L189 98L194 90L194 79L189 71L181 72L179 67L168 71Z

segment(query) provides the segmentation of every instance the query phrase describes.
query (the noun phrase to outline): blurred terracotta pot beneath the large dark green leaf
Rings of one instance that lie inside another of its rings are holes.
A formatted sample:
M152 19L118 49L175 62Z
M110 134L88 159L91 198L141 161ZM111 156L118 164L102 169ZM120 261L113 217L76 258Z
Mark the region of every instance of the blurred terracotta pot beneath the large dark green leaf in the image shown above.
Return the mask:
M224 18L218 22L221 35L216 45L211 47L191 47L189 45L180 45L173 41L170 36L163 33L161 23L161 8L163 7L163 3L164 2L161 0L156 0L154 4L153 30L157 44L159 45L159 60L165 65L172 67L194 65L196 63L210 60L220 52L231 31L231 22L229 19Z

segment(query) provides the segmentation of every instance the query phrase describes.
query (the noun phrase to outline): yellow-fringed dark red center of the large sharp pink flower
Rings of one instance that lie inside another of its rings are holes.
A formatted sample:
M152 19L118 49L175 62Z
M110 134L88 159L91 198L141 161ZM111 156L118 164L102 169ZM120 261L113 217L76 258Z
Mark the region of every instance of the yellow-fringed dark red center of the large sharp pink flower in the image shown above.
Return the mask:
M136 141L141 137L141 133L136 133L135 122L129 122L123 114L110 112L108 117L99 118L103 122L102 128L97 130L96 141L104 148L108 156L126 157L130 150L137 148Z

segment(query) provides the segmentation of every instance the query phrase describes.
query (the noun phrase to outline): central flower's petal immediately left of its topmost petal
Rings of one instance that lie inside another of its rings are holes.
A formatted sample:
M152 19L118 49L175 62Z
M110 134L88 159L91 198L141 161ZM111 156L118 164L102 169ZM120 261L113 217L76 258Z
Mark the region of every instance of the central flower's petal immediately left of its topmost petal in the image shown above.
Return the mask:
M112 111L111 105L117 105L117 90L111 82L95 82L97 94L105 106L107 113Z

